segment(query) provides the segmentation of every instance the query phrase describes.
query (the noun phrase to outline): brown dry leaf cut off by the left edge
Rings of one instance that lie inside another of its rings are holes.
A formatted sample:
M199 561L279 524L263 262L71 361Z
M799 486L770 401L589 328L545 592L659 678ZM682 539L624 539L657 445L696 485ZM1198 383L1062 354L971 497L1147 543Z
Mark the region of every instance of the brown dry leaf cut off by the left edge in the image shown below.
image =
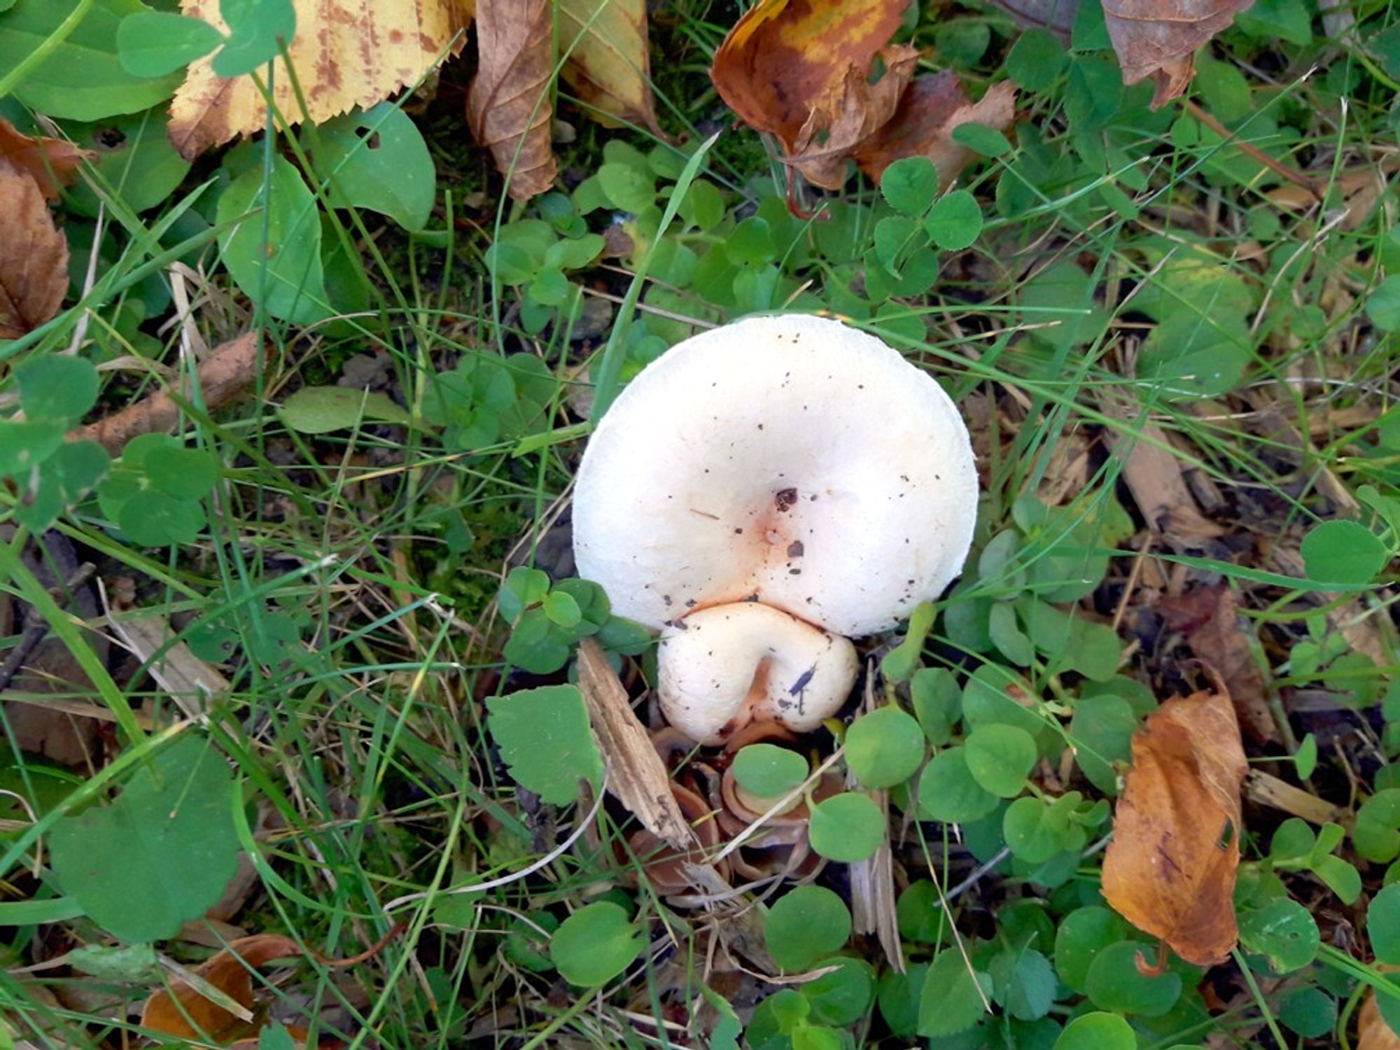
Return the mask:
M59 312L69 290L69 242L39 183L0 164L0 339L18 339Z

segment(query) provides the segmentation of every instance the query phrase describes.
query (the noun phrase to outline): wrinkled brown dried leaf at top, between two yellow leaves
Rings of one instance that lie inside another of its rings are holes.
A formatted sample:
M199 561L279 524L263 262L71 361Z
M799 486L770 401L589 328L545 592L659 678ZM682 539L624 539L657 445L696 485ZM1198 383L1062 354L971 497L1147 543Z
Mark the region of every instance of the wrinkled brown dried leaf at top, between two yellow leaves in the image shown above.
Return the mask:
M559 168L549 141L554 67L550 0L480 0L476 46L480 60L466 95L466 120L491 151L515 200L539 196Z

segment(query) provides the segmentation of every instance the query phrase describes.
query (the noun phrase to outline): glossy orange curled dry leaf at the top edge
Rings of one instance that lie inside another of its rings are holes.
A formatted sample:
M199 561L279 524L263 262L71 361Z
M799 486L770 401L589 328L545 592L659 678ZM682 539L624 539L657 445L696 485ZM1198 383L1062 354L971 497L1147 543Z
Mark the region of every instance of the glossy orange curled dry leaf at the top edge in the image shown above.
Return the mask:
M720 45L710 77L750 127L777 136L813 183L836 189L855 146L899 106L918 53L889 39L907 0L763 0ZM872 84L876 60L883 74Z

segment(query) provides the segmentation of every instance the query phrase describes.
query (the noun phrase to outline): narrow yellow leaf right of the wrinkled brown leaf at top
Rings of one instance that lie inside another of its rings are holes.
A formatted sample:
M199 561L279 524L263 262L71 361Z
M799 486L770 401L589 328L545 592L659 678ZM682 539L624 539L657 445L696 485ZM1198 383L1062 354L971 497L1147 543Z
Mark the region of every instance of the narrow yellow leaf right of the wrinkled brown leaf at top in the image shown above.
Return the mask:
M560 76L598 111L599 123L641 125L661 134L651 98L645 0L559 0L559 53Z

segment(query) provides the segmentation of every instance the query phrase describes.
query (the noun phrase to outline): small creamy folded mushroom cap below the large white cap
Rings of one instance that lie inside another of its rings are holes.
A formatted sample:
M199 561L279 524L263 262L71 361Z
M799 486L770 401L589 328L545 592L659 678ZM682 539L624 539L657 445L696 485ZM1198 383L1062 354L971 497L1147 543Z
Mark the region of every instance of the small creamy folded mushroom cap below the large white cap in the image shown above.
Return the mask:
M700 743L722 743L752 721L815 729L846 703L860 661L848 638L735 602L666 627L657 664L666 721Z

